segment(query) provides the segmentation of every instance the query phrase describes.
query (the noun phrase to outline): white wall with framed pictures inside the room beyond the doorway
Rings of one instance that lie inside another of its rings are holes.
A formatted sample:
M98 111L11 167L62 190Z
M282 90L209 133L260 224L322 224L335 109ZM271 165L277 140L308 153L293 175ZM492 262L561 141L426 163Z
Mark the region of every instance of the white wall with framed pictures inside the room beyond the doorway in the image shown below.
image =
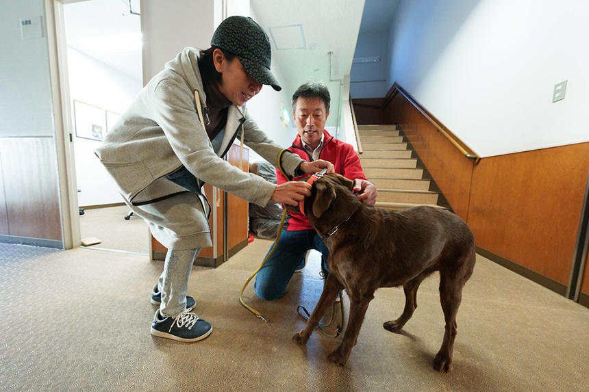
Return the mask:
M141 75L131 78L72 48L68 48L68 73L73 101L118 114L127 109L142 88ZM79 138L74 133L76 181L78 189L82 190L78 203L82 207L123 202L114 181L94 153L99 144L97 140Z

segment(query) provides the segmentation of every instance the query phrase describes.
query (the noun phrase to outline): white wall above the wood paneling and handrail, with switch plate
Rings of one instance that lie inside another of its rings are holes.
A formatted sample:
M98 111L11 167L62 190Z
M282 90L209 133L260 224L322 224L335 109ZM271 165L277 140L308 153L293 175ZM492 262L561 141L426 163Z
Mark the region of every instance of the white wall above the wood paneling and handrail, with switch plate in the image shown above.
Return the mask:
M481 157L587 142L588 16L584 0L401 0L388 83Z

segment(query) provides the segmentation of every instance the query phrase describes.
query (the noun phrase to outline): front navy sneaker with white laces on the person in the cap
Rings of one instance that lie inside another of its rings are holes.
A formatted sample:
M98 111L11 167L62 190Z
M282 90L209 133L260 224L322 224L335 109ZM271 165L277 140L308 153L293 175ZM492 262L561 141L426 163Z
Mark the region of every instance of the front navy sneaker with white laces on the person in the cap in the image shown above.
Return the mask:
M151 323L151 335L177 341L199 341L211 335L211 332L211 324L188 311L179 313L176 317L164 317L158 309Z

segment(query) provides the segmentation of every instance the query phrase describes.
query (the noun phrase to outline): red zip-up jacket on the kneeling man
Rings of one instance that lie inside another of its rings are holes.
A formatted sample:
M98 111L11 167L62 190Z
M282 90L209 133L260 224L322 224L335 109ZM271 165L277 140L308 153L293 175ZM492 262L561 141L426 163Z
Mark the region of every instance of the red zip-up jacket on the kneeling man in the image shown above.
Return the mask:
M299 157L305 159L305 161L313 161L309 153L305 151L300 135L297 135L297 138L294 138L292 146L288 147L287 150L298 154ZM319 159L334 164L334 171L338 174L342 174L342 176L347 179L366 180L366 176L364 176L364 172L362 171L362 166L360 166L360 157L358 157L358 153L354 151L353 146L329 135L329 132L325 129L323 130L323 148L319 154ZM301 177L294 177L294 180L296 181ZM288 179L282 175L280 170L276 169L276 181L281 184L286 183ZM288 218L284 222L284 227L286 227L286 230L288 231L313 229L309 219L305 215L290 210L288 211Z

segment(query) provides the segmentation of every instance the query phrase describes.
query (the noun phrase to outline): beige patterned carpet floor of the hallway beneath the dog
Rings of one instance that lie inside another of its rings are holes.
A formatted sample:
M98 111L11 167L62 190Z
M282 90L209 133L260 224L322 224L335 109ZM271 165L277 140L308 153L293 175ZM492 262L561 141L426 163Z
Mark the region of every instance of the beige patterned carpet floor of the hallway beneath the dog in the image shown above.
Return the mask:
M121 217L122 220L122 217ZM454 371L432 369L444 322L438 276L418 292L404 333L382 323L403 309L403 291L380 289L346 367L325 356L340 338L303 326L296 307L321 293L316 260L281 300L245 298L242 284L271 241L255 239L216 269L195 267L189 294L214 326L198 343L152 337L149 293L162 263L92 248L56 251L0 244L4 331L0 389L7 391L587 391L589 310L477 257L458 312ZM348 305L347 298L344 304Z

